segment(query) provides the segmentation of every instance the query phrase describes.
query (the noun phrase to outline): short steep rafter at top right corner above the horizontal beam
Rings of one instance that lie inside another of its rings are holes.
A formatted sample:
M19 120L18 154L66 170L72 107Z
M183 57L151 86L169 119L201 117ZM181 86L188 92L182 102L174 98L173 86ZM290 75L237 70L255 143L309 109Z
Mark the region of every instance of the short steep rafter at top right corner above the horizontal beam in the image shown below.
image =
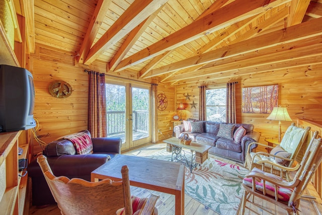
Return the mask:
M292 0L290 5L290 15L287 20L287 27L300 24L303 20L310 0Z

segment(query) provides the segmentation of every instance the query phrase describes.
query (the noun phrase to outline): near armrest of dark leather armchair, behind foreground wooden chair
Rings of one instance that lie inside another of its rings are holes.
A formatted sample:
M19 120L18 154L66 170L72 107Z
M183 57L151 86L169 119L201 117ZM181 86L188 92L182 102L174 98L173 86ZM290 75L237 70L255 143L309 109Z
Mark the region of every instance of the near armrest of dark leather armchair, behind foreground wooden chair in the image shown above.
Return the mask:
M91 172L110 160L109 155L61 155L58 157L47 157L48 164L55 176L83 178L82 175L90 177ZM30 177L43 176L39 164L34 159L27 167Z

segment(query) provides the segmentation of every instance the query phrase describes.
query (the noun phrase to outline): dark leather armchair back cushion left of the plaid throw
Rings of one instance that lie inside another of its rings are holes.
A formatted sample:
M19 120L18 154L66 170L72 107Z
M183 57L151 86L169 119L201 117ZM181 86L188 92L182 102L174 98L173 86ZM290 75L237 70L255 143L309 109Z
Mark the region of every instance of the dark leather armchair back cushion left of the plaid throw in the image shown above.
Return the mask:
M60 139L50 142L43 151L43 154L51 156L75 155L76 150L71 141Z

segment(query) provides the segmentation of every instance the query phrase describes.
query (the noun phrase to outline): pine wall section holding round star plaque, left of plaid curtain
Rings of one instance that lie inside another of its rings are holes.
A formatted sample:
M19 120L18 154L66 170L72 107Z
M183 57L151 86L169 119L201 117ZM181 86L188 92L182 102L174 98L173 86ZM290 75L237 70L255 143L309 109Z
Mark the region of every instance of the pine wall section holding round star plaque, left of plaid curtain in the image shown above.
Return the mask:
M88 74L74 65L70 54L36 46L31 55L31 69L35 85L34 117L39 122L37 133L47 144L66 134L88 128ZM61 80L72 87L72 94L58 99L51 96L48 86ZM41 152L34 141L34 154Z

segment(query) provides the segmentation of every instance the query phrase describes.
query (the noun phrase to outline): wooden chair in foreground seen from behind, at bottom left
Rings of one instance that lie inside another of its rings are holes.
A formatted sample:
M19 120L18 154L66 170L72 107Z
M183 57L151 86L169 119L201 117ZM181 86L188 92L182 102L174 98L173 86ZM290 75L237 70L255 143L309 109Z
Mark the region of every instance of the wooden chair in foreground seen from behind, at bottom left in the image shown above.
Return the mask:
M157 214L157 195L151 194L149 198L131 196L126 165L120 170L122 181L104 179L89 182L79 178L55 177L45 156L39 156L37 162L61 214Z

